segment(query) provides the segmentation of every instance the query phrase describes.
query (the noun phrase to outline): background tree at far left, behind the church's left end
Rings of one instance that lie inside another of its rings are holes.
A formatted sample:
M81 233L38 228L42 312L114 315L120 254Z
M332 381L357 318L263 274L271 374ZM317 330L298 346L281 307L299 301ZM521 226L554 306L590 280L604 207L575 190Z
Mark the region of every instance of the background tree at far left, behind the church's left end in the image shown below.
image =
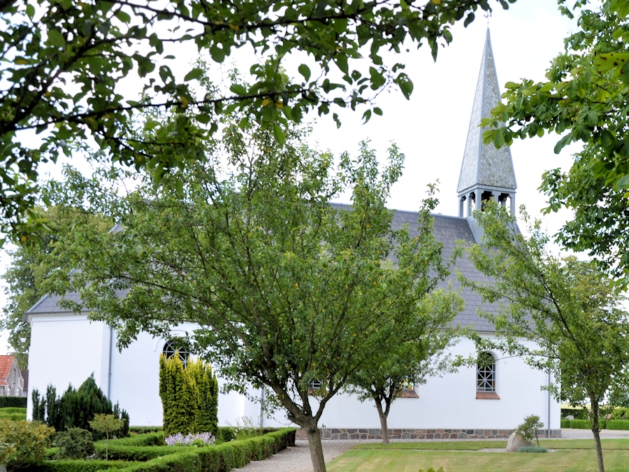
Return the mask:
M49 189L43 187L43 194ZM6 304L2 309L0 330L8 331L8 345L13 348L17 362L22 369L28 365L28 351L31 344L31 326L24 321L24 314L46 294L41 284L48 274L55 270L50 266L52 259L47 257L54 247L57 235L68 231L73 225L95 225L107 231L112 220L103 215L81 213L77 208L34 208L33 217L42 222L45 228L31 234L24 241L17 241L15 248L8 250L10 266L2 274L6 285Z

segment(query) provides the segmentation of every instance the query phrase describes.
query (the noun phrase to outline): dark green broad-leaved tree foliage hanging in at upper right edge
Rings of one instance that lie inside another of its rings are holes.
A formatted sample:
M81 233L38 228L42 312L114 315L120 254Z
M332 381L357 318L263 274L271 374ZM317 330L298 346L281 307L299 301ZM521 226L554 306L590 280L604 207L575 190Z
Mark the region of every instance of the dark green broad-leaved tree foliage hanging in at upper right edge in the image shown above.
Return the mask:
M563 4L563 1L560 1ZM583 145L567 172L544 173L547 213L565 206L574 217L556 235L559 243L585 250L621 283L629 283L629 7L605 0L598 9L579 8L579 29L565 39L565 52L547 71L547 81L508 82L506 103L484 120L496 146L514 138L563 134L555 152L572 142ZM575 12L561 6L572 17ZM506 124L504 124L506 122ZM610 257L611 256L611 257Z

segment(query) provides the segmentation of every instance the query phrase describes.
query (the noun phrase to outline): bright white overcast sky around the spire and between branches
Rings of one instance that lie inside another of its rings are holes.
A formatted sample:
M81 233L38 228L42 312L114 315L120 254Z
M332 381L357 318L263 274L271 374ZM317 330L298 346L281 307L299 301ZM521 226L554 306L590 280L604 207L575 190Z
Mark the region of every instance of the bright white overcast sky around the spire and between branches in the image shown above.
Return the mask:
M563 38L576 28L574 22L559 15L554 1L518 0L506 11L500 9L497 2L491 5L496 7L489 27L501 90L510 80L543 80L549 62L563 50ZM441 203L437 212L458 215L456 185L487 27L481 14L468 28L463 28L462 23L453 27L454 41L447 48L440 48L436 63L426 45L419 50L411 47L410 52L397 58L398 62L406 64L405 71L414 83L410 101L399 90L392 89L377 99L377 106L384 115L373 115L367 124L362 124L362 111L341 110L340 129L336 128L331 115L316 119L312 143L318 143L319 148L329 149L335 155L345 150L355 153L359 141L365 138L370 139L383 158L391 141L405 152L405 171L393 187L390 208L417 210L426 185L439 180ZM177 63L184 73L190 69L187 64L194 60L193 49L177 50ZM245 54L236 59L236 66L244 71L250 66L247 56L250 57ZM393 60L395 58L391 58ZM350 67L352 65L350 62ZM291 62L289 73L290 66ZM294 67L296 69L296 65ZM125 88L132 88L133 83L129 82ZM525 204L530 215L542 218L549 234L558 231L568 214L541 215L547 198L537 187L544 171L569 166L570 152L575 150L571 148L555 155L553 148L558 139L557 135L551 135L515 141L511 149L518 183L516 204ZM78 162L73 164L80 166ZM41 169L41 174L50 173L59 178L59 169L60 166L47 167ZM2 252L0 271L6 270L8 262L6 252ZM0 293L0 303L6 303L3 293ZM6 349L5 336L0 335L0 353Z

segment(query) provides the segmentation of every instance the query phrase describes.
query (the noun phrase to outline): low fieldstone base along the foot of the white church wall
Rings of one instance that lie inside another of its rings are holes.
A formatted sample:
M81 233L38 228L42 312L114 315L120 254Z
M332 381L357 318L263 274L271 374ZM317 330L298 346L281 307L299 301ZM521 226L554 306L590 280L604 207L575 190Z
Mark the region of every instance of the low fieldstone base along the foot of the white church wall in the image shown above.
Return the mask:
M390 439L508 439L513 429L389 429ZM303 429L297 438L306 438ZM540 439L547 430L540 430ZM551 429L551 438L561 438L561 429ZM382 439L380 429L321 428L321 439Z

